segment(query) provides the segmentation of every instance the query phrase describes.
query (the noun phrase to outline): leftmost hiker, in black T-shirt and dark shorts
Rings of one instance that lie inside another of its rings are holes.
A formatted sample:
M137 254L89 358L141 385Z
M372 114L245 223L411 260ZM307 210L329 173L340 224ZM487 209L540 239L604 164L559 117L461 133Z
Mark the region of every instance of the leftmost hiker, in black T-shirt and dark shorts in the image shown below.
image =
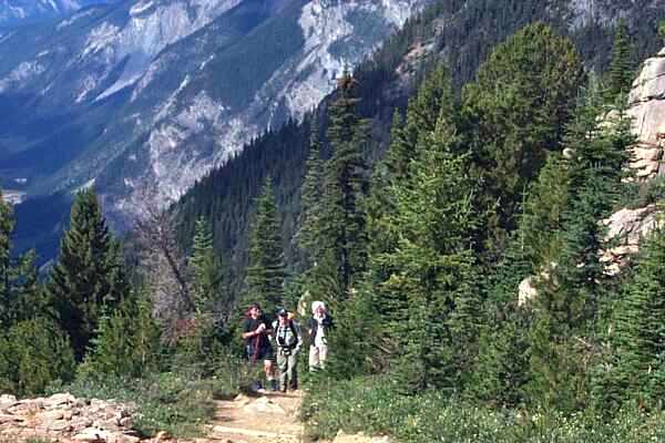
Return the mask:
M275 380L275 368L273 364L275 357L269 338L273 330L269 324L268 319L260 310L260 306L252 303L243 322L243 338L247 344L247 358L249 362L254 364L258 360L263 360L266 380L270 384L270 390L277 391L277 380ZM253 389L260 389L260 382L256 381Z

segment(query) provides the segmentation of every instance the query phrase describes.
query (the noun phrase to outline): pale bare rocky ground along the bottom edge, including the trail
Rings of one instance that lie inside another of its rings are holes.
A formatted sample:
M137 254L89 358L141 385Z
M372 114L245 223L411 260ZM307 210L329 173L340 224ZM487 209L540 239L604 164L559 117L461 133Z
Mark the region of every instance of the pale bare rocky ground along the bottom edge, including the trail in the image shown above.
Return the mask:
M216 402L216 415L205 436L182 443L304 442L298 419L301 392L239 394ZM40 439L63 443L177 442L164 433L145 437L133 429L136 408L114 401L76 399L69 393L18 400L0 395L0 441ZM390 443L383 437L339 432L332 443Z

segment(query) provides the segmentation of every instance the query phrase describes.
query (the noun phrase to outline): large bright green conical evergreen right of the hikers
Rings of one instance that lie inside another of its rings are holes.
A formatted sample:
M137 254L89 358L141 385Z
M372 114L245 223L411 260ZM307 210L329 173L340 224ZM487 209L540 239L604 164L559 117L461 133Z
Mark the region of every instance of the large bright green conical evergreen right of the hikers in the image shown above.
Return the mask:
M375 258L393 269L379 285L393 295L397 321L388 329L397 343L393 373L405 392L459 391L475 356L477 216L468 157L457 153L458 143L454 125L440 119L419 146L410 178L390 189L395 212L389 225L398 233L398 246Z

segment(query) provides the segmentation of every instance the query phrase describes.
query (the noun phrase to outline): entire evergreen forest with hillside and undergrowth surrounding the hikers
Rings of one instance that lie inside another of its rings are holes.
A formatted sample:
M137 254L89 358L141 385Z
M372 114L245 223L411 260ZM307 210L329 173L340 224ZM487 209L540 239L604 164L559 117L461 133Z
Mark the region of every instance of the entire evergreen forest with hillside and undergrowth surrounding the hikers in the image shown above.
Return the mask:
M565 10L490 3L434 4L126 241L81 190L43 281L34 253L11 254L1 203L0 390L131 398L141 431L188 435L206 393L254 377L247 305L323 300L336 328L304 381L313 437L662 439L665 231L620 272L600 255L600 220L665 200L662 177L627 167L627 94L658 18L594 40L563 32Z

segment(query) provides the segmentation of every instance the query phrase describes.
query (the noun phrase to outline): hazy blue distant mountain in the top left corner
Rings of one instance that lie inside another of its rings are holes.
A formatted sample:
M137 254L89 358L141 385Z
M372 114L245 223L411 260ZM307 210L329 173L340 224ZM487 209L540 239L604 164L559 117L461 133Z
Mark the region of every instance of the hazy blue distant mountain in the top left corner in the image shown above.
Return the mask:
M104 0L0 0L0 28L64 17Z

